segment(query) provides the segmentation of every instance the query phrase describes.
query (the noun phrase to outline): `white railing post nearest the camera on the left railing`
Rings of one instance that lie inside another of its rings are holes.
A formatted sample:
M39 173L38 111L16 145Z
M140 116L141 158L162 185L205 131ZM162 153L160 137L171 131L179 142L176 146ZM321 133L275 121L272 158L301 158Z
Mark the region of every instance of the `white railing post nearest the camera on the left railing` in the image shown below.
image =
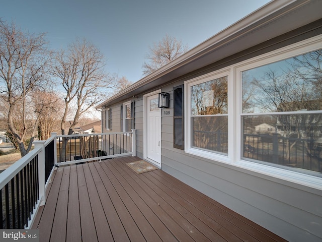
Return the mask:
M38 179L39 179L39 206L46 203L46 190L45 190L45 142L44 140L34 141L35 149L40 149L38 153Z

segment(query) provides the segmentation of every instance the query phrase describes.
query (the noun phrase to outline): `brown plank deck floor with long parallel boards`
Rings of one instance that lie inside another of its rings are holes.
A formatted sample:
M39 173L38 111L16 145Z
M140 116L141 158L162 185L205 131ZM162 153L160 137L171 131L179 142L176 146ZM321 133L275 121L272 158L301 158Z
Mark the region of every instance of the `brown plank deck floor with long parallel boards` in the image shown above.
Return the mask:
M33 228L40 241L285 241L162 170L125 157L59 167Z

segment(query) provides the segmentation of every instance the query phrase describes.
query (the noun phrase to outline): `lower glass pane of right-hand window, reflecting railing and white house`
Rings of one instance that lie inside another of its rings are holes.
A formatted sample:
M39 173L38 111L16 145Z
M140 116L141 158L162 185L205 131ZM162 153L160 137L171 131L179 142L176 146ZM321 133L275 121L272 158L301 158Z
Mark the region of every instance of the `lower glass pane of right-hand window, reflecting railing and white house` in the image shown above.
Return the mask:
M243 157L321 172L322 114L243 116Z

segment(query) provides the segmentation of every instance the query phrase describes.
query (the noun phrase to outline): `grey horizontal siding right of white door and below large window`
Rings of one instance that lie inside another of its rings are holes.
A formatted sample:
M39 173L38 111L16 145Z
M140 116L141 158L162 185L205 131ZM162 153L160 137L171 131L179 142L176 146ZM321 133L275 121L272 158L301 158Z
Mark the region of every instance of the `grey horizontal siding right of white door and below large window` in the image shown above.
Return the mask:
M176 84L171 94L173 113ZM162 117L162 169L237 213L291 241L318 241L321 191L207 160L173 148L173 116Z

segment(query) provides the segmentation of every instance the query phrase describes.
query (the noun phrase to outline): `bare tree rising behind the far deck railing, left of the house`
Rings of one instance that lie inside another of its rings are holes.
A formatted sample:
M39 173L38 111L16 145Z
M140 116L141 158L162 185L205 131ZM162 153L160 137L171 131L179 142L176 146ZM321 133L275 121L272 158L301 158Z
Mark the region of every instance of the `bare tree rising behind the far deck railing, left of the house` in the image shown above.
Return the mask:
M92 43L77 39L55 56L53 76L60 82L64 93L64 111L61 134L65 134L65 122L72 112L68 134L73 133L79 117L106 98L114 87L115 77L105 73L104 57ZM73 109L73 110L71 110Z

